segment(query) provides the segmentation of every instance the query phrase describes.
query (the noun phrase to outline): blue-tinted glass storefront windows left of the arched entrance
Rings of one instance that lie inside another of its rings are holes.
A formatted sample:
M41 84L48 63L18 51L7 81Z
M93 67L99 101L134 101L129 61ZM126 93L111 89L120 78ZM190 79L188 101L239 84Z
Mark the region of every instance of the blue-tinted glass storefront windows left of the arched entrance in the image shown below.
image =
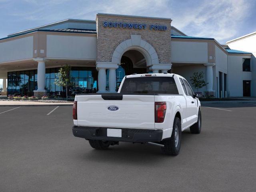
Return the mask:
M65 88L54 84L59 68L46 68L45 89L47 96L66 97ZM95 67L72 67L70 75L74 86L70 86L68 95L92 93L97 91L98 72ZM8 94L32 96L37 90L37 70L8 72Z

